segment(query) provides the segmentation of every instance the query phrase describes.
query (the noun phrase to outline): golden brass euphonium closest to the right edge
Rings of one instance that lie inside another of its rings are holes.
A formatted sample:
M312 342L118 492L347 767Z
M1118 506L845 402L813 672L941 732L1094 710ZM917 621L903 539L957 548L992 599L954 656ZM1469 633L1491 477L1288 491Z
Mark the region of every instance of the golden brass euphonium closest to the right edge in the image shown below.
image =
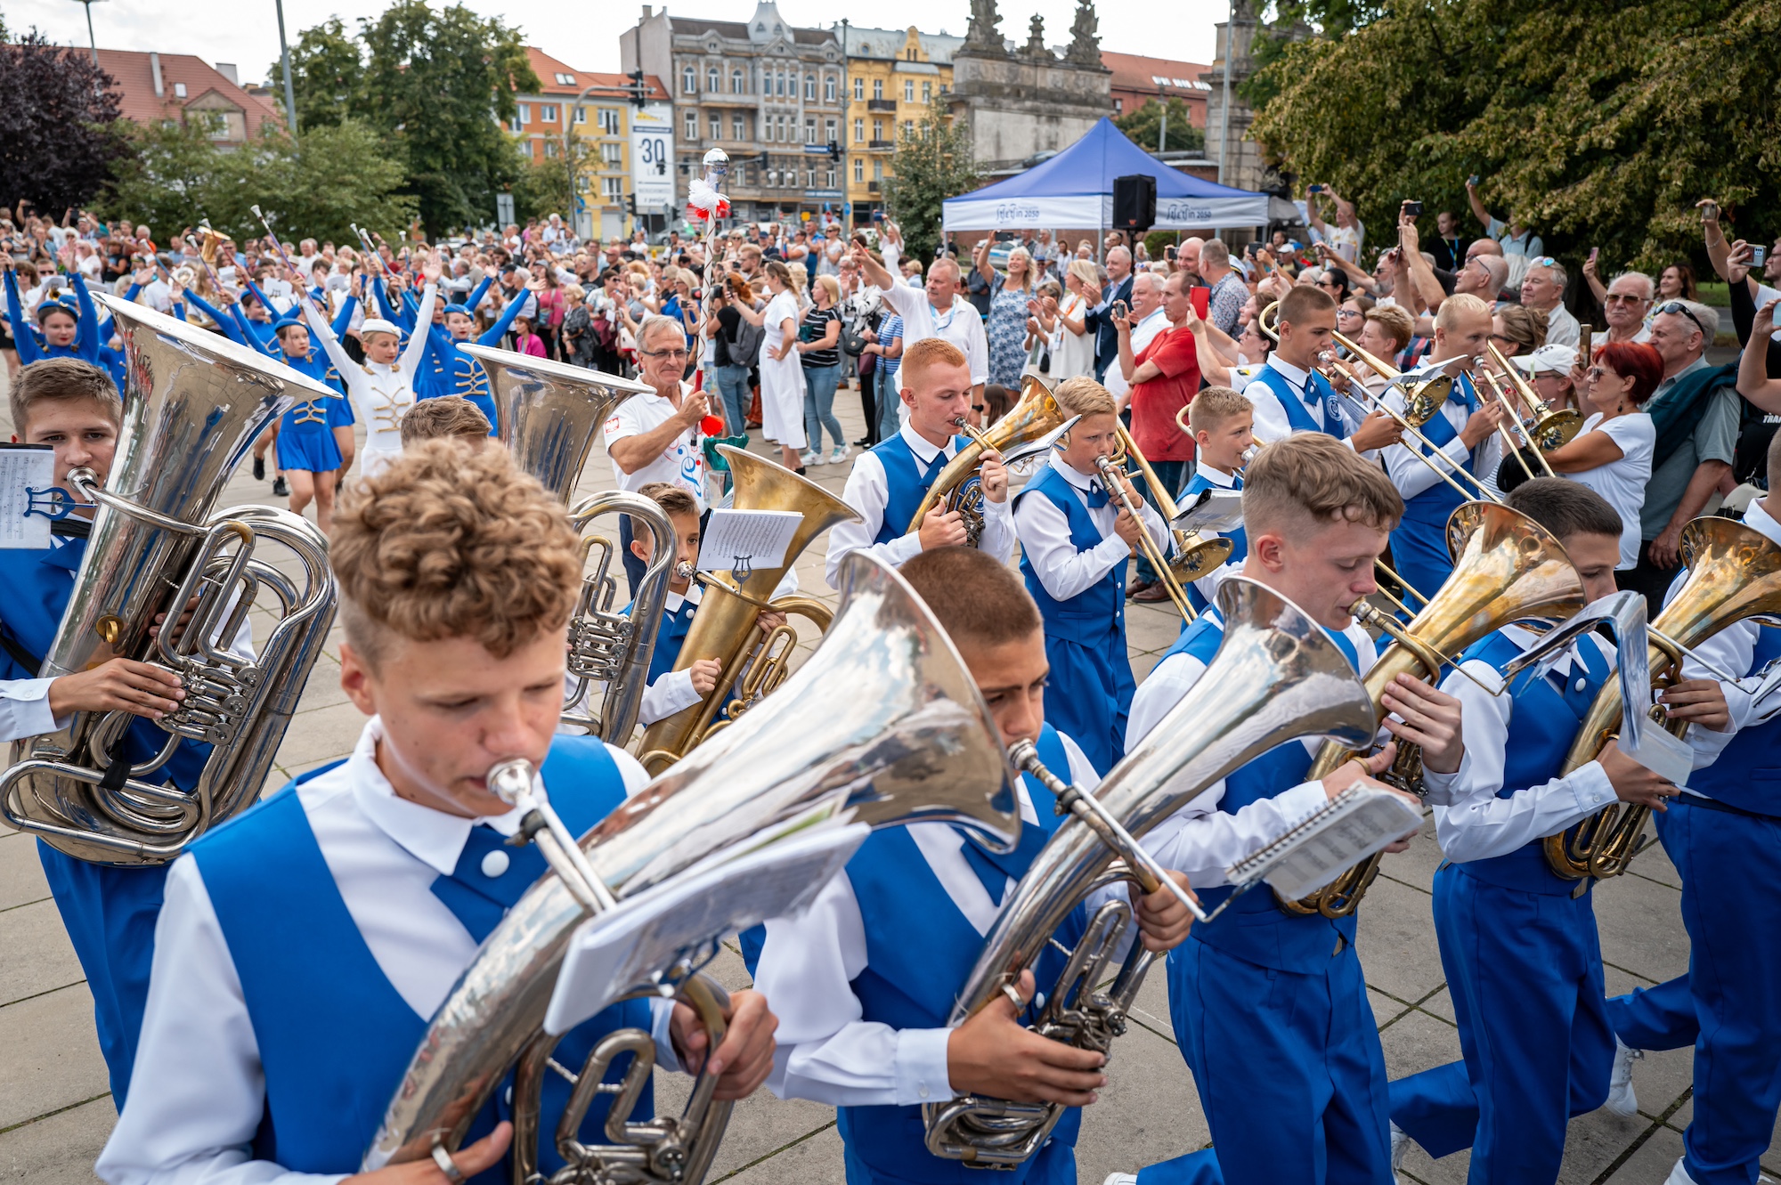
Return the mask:
M1651 681L1656 687L1676 680L1683 648L1692 649L1745 617L1781 614L1781 548L1760 532L1729 518L1697 518L1681 528L1681 557L1688 580L1651 623L1647 635ZM1608 680L1596 692L1560 772L1569 774L1601 754L1601 747L1619 733L1622 708L1621 681ZM1660 712L1653 719L1671 728ZM1687 730L1671 731L1679 737ZM1649 817L1649 806L1605 806L1576 827L1548 836L1546 863L1567 881L1617 877L1639 854Z

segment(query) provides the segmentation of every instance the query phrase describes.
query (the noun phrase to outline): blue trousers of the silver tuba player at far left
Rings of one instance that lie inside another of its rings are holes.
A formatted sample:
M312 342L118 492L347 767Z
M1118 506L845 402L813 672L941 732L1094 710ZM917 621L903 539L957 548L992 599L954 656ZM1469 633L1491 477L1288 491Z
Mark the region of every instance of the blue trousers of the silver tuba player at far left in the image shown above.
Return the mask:
M93 1021L110 1075L112 1101L123 1110L148 1007L148 971L155 959L155 920L171 865L110 868L66 856L37 840L37 859L55 895L62 925L93 993Z

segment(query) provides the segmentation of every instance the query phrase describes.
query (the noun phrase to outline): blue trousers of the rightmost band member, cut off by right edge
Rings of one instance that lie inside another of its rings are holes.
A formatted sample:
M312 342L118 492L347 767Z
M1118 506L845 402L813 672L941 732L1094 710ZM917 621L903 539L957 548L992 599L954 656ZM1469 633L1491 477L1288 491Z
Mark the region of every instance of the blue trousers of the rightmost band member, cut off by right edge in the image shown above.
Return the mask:
M1781 1107L1781 818L1692 806L1681 795L1656 820L1681 874L1688 975L1615 996L1608 1020L1635 1050L1694 1046L1688 1176L1749 1185Z

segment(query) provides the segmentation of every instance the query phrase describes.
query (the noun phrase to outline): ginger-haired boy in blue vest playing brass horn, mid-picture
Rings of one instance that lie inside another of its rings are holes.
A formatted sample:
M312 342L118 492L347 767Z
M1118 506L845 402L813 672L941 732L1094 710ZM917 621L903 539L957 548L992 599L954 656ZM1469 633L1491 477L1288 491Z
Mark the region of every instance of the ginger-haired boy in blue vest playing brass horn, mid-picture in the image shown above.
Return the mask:
M841 498L860 512L862 521L837 523L828 532L830 587L837 587L848 552L871 550L885 562L901 566L921 552L965 543L962 516L944 505L928 511L915 530L907 530L907 525L946 463L971 443L953 434L958 420L971 415L971 367L951 342L923 338L903 351L898 383L908 418L896 436L860 454L848 473ZM978 475L983 482L980 546L985 555L1006 564L1013 557L1015 530L1001 454L985 450Z

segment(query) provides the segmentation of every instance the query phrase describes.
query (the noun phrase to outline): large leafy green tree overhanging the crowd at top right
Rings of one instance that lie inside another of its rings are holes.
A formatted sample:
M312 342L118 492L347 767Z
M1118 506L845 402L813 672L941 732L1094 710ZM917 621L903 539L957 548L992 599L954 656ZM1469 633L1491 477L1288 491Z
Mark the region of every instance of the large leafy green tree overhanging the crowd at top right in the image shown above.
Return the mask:
M1699 198L1751 230L1781 219L1781 59L1756 52L1777 36L1781 0L1389 0L1286 46L1254 135L1357 201L1375 244L1403 198L1476 233L1478 174L1551 254L1658 267L1699 251Z

